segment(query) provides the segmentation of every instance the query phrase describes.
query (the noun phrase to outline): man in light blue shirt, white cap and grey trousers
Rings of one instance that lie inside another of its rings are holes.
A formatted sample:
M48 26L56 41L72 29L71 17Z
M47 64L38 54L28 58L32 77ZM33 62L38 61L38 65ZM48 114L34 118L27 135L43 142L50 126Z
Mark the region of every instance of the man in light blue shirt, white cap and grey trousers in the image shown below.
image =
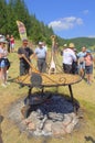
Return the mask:
M34 56L38 59L38 69L40 73L46 72L46 53L48 50L43 46L43 42L39 42L39 46L34 51Z

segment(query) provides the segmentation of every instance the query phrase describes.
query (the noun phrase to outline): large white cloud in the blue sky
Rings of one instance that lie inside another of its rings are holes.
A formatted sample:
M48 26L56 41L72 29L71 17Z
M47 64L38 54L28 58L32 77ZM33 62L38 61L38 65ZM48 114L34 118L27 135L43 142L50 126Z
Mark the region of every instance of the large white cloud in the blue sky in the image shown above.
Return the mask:
M62 31L73 29L75 25L81 24L83 24L83 20L81 18L68 16L60 19L57 21L52 21L49 23L49 26L52 26L54 31Z

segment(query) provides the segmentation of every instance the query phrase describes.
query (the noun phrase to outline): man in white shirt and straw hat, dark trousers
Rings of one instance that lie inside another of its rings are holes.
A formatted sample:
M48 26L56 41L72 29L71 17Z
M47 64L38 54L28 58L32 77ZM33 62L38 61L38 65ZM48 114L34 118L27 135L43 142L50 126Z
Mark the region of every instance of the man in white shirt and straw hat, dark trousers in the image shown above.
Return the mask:
M63 51L63 72L66 74L73 74L72 65L73 62L76 62L74 47L74 43L70 43L68 47L65 47Z

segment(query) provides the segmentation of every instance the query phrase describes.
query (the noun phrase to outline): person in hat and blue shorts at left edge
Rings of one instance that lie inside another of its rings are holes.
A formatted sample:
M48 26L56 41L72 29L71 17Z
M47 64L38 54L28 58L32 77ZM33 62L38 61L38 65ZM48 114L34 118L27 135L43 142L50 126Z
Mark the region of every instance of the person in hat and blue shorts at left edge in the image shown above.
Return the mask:
M7 87L7 69L8 69L8 64L6 62L8 52L6 50L6 44L7 41L2 37L0 38L0 80L1 80L1 86Z

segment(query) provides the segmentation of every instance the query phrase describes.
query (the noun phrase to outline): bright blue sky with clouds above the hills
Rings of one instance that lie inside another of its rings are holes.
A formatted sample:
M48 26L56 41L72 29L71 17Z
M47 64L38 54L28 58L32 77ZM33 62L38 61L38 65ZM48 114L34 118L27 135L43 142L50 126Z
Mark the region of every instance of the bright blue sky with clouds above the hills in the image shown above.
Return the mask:
M95 37L95 0L24 1L29 12L61 37Z

